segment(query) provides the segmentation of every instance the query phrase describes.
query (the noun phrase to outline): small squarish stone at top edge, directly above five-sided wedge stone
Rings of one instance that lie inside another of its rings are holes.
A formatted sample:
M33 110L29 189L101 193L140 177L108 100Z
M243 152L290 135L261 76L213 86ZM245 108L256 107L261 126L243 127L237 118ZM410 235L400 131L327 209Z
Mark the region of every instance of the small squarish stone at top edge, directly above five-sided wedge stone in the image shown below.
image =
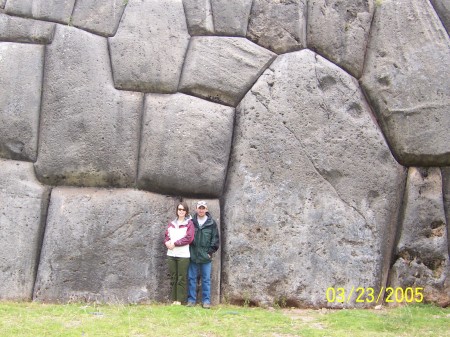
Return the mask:
M211 0L217 35L245 36L252 0Z

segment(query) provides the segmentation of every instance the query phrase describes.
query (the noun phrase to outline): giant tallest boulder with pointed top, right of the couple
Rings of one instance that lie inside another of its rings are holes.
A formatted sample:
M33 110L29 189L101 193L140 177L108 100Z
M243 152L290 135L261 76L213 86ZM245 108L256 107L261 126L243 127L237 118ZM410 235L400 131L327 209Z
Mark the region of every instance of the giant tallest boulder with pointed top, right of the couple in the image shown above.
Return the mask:
M327 288L384 285L403 182L357 81L309 50L279 56L236 109L222 295L360 305Z

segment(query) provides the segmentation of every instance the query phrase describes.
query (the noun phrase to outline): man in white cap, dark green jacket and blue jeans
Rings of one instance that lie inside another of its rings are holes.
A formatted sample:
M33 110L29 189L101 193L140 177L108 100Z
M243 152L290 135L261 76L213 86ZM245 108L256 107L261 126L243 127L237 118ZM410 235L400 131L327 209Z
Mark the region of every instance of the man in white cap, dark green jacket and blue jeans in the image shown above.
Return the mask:
M188 269L187 306L195 306L197 300L197 276L202 279L202 305L211 308L211 261L219 249L219 231L217 224L208 212L206 201L197 203L196 214L192 218L195 227L194 241L189 246L191 261Z

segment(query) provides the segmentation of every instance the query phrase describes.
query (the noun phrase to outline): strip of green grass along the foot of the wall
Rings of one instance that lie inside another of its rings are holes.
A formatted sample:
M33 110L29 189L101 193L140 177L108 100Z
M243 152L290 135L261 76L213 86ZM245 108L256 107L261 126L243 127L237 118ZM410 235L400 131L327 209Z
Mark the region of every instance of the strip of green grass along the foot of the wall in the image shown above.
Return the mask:
M450 336L450 309L263 309L220 305L0 302L0 336Z

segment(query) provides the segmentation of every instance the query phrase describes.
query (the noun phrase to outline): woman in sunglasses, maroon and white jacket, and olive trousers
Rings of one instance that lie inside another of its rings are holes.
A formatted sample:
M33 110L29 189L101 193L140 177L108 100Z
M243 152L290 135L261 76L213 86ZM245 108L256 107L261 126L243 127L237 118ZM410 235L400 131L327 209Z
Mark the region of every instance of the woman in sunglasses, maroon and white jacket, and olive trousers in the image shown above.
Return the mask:
M167 226L164 243L167 247L172 304L181 305L187 297L189 244L194 240L195 229L185 202L179 203L175 212L177 217Z

